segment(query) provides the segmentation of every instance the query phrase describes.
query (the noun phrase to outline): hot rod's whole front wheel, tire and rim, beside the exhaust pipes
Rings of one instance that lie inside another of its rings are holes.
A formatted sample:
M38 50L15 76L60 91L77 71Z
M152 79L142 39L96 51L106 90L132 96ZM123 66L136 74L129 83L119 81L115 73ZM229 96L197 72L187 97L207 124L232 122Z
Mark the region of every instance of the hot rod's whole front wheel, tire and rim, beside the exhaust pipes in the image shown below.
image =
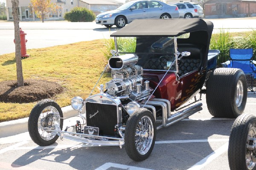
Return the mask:
M136 110L125 128L125 150L134 161L143 161L151 154L156 139L153 114L145 108Z

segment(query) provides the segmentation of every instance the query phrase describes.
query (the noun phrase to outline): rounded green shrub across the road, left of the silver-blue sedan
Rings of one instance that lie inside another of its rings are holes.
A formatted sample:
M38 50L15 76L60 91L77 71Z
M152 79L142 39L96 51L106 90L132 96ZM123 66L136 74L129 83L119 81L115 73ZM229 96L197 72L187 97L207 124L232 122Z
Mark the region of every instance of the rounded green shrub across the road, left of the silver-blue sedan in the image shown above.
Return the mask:
M93 11L83 8L75 7L70 12L66 12L64 15L65 20L71 22L92 22L96 16Z

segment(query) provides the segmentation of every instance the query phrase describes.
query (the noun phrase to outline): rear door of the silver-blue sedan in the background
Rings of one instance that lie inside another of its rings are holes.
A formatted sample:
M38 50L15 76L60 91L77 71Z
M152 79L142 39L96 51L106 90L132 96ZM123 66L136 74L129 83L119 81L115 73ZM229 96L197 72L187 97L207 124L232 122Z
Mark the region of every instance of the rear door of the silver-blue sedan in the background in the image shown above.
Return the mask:
M148 1L148 18L159 19L164 13L164 7L157 1Z

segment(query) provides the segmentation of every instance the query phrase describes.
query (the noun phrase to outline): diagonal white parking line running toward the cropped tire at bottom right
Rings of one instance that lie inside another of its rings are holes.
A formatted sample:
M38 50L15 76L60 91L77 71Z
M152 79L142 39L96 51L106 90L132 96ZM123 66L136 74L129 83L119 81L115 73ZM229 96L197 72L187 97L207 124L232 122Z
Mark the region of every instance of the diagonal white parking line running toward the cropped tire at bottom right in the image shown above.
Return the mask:
M228 142L222 145L220 148L215 150L213 153L211 153L207 157L205 157L204 159L202 159L201 161L199 161L198 163L194 164L191 168L187 170L200 170L201 168L209 164L211 161L213 161L215 158L220 156L222 153L226 152L227 149L228 149Z

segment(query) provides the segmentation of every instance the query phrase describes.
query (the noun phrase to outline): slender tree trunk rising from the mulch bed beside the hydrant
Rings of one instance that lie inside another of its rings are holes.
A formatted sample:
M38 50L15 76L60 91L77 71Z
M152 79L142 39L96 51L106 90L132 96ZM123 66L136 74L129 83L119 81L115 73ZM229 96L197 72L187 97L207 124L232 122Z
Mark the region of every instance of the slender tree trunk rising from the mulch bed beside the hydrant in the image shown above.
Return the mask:
M15 33L15 59L16 59L16 69L17 69L17 86L24 86L23 73L22 73L22 63L21 63L21 52L20 52L20 25L19 25L19 0L12 0L12 15L14 23L14 33Z

